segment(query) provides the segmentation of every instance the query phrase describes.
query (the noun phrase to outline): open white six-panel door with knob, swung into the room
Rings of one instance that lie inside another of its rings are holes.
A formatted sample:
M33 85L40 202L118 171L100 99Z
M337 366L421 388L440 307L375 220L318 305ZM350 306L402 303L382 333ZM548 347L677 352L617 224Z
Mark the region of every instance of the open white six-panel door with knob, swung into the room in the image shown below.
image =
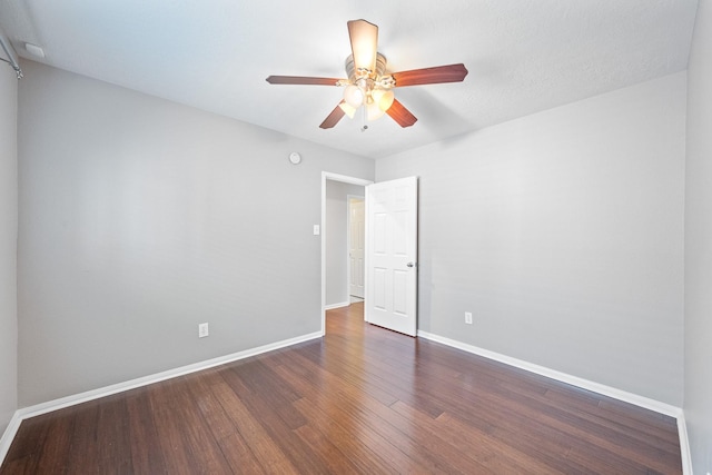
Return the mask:
M417 177L366 187L366 304L370 324L417 330Z

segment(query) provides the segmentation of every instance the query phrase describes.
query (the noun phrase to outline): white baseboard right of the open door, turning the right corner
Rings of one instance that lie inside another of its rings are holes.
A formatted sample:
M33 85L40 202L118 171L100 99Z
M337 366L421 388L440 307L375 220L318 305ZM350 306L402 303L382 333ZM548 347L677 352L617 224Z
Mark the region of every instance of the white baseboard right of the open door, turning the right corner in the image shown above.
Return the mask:
M660 414L664 414L678 419L678 434L680 437L680 451L682 456L682 471L685 475L692 475L692 457L690 454L690 444L688 441L688 428L685 425L685 417L682 408L672 406L670 404L661 403L655 399L651 399L636 394L627 393L611 386L594 383L587 379L583 379L576 376L568 375L566 373L557 372L544 366L535 365L522 359L512 358L500 353L491 352L488 349L479 348L473 345L467 345L455 339L446 338L439 335L434 335L427 331L418 330L418 336L425 339L429 339L443 345L452 346L453 348L462 349L463 352L472 353L478 356L483 356L495 362L504 363L505 365L514 366L520 369L527 370L547 378L552 378L562 383L566 383L583 389L589 389L594 393L602 394L604 396L612 397L624 403L633 404L645 409L654 410Z

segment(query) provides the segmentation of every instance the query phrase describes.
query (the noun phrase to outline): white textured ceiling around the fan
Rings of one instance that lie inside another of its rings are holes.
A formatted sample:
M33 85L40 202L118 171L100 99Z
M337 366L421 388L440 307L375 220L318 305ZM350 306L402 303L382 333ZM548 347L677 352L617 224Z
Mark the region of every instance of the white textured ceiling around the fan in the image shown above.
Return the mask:
M0 0L21 57L365 157L443 140L686 69L696 0ZM396 89L417 118L318 125L343 90L346 21L379 27L388 71L463 62L462 83ZM40 46L39 59L24 48Z

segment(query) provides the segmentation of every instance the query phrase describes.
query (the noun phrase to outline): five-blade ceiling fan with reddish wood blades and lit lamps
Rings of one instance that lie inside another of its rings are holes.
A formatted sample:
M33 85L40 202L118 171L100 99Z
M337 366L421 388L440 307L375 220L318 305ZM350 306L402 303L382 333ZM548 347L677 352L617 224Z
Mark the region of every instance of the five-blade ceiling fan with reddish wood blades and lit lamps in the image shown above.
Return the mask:
M270 76L270 85L338 86L344 88L344 99L319 126L330 129L346 115L354 117L357 109L364 109L364 117L375 120L387 113L400 127L411 127L418 119L395 98L393 88L404 86L461 82L467 76L465 65L437 66L402 72L386 72L386 57L376 49L378 27L366 20L352 20L348 37L352 55L346 58L348 79L314 78L304 76ZM368 126L362 128L366 130Z

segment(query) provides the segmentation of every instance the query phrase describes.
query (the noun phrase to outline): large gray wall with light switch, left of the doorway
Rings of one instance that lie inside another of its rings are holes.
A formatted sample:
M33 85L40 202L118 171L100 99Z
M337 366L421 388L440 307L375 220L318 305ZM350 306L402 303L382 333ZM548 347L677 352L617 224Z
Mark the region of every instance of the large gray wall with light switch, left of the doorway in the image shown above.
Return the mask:
M24 69L20 406L320 330L322 171L373 160Z

